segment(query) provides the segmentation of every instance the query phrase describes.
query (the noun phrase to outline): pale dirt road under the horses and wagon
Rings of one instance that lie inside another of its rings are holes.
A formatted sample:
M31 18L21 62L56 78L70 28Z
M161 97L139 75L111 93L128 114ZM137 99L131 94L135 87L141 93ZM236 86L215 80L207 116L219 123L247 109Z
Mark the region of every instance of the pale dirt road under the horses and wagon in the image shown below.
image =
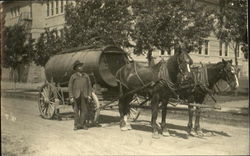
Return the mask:
M119 114L102 111L102 127L73 131L73 120L45 120L37 103L1 99L3 155L177 155L249 154L249 131L244 127L202 123L206 136L189 137L186 120L168 120L170 137L152 139L150 116L119 130Z

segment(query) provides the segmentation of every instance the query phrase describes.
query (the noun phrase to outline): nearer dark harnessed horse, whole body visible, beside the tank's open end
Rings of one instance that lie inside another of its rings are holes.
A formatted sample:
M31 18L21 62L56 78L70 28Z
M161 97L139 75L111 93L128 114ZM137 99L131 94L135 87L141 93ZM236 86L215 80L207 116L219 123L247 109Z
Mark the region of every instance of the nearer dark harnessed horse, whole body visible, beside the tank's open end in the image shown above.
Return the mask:
M177 94L170 89L180 74L184 79L191 72L192 59L186 52L176 53L167 61L160 61L151 67L142 66L137 62L126 64L116 73L116 79L120 86L121 98L119 99L120 128L121 130L131 129L127 122L129 114L129 103L134 94L143 95L151 99L153 137L158 138L158 126L156 123L159 103L162 102L163 116L166 116L166 104L170 97ZM171 81L172 80L172 81ZM169 135L165 119L161 124L162 134Z

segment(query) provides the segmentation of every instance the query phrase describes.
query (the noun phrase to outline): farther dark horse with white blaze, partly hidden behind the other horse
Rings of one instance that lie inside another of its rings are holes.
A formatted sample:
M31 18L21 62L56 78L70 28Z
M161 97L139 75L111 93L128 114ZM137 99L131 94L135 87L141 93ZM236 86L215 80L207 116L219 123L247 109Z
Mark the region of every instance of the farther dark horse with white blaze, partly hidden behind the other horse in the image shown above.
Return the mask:
M194 69L191 69L192 72ZM194 75L193 75L194 76ZM232 60L225 61L222 59L221 62L217 64L208 64L207 65L207 85L206 86L195 86L192 92L187 90L182 90L180 93L180 98L188 99L189 103L199 103L202 104L205 100L205 96L209 94L210 91L213 90L215 84L219 80L224 80L231 87L231 89L236 89L239 87L239 82L237 78L237 72L235 67L232 65ZM204 90L204 87L207 88L207 91ZM195 109L195 125L193 127L193 113L194 106L189 106L189 121L188 121L188 133L192 136L202 136L203 133L200 128L200 115L201 108L196 107Z

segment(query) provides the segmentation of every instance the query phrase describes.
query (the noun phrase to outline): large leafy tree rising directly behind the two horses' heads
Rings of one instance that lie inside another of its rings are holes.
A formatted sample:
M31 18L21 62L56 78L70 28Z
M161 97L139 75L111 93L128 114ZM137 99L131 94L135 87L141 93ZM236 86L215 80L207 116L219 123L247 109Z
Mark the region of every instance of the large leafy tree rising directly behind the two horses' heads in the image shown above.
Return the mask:
M132 38L136 42L135 53L152 49L170 51L180 43L191 52L213 31L213 10L202 4L187 6L186 1L145 0L132 4L136 16Z

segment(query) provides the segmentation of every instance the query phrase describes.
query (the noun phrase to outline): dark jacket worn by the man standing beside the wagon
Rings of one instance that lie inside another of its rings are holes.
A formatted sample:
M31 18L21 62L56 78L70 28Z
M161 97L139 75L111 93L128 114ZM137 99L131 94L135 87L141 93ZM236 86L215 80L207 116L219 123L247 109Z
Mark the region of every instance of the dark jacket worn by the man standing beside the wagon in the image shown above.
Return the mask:
M88 74L76 72L69 80L69 97L79 98L80 95L87 98L91 96L92 85Z

